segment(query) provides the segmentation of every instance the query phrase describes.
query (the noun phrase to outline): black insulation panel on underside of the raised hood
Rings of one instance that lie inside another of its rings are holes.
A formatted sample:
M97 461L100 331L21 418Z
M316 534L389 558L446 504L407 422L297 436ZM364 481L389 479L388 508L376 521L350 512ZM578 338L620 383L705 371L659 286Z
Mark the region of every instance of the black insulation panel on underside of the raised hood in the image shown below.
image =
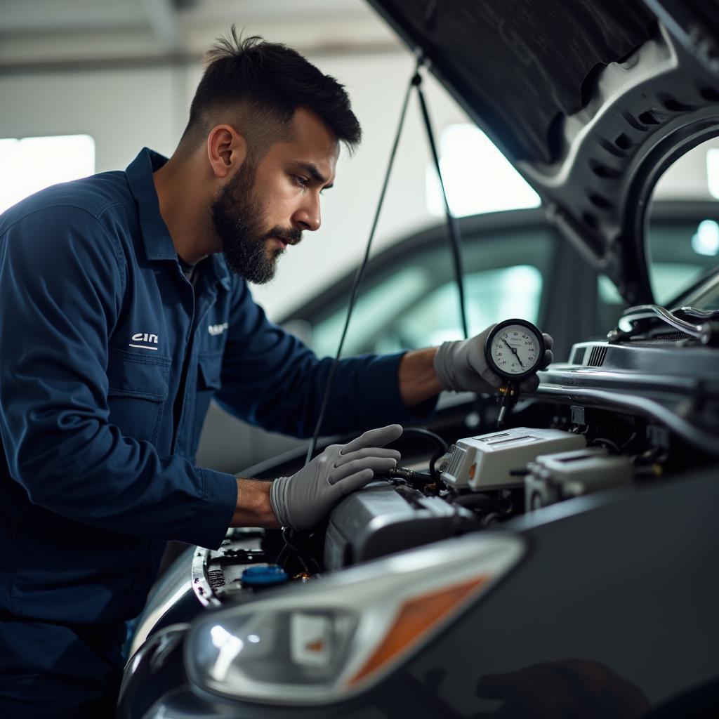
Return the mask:
M515 160L551 163L552 128L592 76L656 32L640 0L382 0L465 109Z

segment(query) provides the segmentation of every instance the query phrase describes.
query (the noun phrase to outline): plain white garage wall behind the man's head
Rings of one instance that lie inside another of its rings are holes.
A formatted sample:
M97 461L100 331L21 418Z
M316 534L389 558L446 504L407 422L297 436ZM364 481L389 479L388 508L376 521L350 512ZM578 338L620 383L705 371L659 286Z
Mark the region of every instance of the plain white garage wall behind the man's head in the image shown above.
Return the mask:
M321 229L288 250L273 283L255 289L273 319L352 269L362 256L413 70L411 55L401 51L309 59L347 86L365 139L354 157L347 152L340 157L335 186L324 198ZM144 145L173 152L200 77L199 65L2 75L0 137L87 133L96 142L98 172L124 168ZM433 78L426 85L437 129L464 121ZM423 132L413 98L375 249L436 221L425 206L429 151Z

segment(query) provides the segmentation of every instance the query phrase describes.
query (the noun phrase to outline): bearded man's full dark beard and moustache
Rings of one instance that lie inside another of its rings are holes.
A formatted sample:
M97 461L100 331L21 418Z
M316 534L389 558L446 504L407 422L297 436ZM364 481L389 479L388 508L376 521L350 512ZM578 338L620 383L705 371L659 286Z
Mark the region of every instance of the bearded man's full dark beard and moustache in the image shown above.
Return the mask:
M265 212L254 196L256 174L255 165L246 161L221 189L210 212L227 266L247 282L263 285L275 276L278 257L283 253L283 249L269 246L270 238L297 244L302 233L280 226L263 232Z

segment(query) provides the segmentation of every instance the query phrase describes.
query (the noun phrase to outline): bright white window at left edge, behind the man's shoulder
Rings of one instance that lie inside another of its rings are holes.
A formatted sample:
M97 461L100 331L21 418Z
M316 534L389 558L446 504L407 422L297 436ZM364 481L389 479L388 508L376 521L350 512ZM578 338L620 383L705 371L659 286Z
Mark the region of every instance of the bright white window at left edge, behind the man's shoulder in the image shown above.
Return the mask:
M94 172L90 135L0 139L0 212L50 185Z

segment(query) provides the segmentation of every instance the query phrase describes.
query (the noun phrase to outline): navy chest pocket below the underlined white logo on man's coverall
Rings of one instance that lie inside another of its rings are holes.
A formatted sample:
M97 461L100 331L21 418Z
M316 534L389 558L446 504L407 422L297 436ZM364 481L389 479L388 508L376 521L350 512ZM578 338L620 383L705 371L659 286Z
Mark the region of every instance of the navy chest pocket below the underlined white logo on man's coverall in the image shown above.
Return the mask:
M171 357L111 349L107 363L111 424L132 439L155 444L168 398Z

